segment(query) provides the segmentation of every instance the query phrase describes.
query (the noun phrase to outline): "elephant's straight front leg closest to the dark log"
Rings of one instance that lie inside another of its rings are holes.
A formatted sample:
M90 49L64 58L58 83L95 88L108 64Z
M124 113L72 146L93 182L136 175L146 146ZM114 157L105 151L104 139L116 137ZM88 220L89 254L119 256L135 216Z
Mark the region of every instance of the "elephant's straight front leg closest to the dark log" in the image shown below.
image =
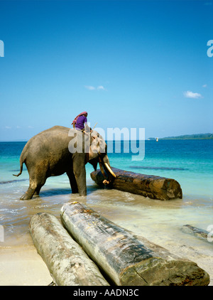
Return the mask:
M72 163L79 195L87 195L86 168L84 156L79 155L79 157L75 157Z

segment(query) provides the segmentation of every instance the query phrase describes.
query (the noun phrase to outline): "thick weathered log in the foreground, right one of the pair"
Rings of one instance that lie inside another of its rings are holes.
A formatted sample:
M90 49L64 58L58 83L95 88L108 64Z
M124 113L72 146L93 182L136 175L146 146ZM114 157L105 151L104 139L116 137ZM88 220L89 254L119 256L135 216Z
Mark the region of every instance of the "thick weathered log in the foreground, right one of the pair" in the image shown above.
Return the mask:
M61 220L72 237L116 285L208 285L195 262L171 254L110 222L87 205L65 203Z

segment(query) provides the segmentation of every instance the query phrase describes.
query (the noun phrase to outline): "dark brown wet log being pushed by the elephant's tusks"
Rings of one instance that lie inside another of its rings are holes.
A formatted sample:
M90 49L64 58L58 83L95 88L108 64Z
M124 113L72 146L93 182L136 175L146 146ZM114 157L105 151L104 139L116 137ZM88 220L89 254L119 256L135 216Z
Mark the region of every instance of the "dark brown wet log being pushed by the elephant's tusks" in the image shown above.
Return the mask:
M143 195L151 199L170 200L175 198L182 199L182 189L178 181L172 178L165 178L152 175L143 175L130 171L111 168L116 178L109 185L120 191ZM104 176L100 170L90 173L92 180L99 186L104 186Z

